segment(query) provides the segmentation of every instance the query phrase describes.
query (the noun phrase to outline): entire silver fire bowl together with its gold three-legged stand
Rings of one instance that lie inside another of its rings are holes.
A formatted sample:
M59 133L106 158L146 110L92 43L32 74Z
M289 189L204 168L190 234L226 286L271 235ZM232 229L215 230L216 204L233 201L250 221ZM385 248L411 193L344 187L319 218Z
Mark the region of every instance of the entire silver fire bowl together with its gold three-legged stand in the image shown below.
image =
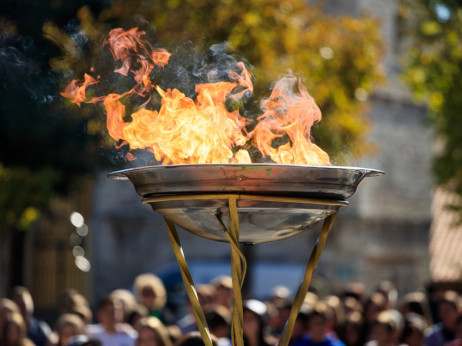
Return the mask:
M232 344L243 346L241 288L246 261L239 243L284 239L324 220L279 345L287 346L295 320L340 207L367 176L381 171L276 164L142 167L111 173L130 179L143 203L162 214L205 345L212 341L176 225L207 239L229 242L233 281Z

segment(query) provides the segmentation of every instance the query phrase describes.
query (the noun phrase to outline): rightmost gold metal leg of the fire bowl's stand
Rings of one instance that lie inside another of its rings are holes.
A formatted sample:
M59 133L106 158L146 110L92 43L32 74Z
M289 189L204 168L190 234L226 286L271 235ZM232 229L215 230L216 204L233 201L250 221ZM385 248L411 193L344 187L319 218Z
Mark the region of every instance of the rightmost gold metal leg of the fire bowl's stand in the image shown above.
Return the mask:
M313 272L316 268L316 265L319 262L322 250L324 249L324 245L326 244L327 235L329 234L329 231L332 228L332 225L334 224L336 216L337 213L334 213L324 220L321 234L319 235L316 245L314 246L311 252L311 256L306 267L305 276L303 277L302 284L297 291L297 294L294 298L294 302L292 303L292 309L290 310L289 319L287 320L281 338L279 339L278 346L287 346L289 344L290 337L292 336L292 331L295 326L295 320L297 319L298 313L300 312L300 309L305 300L308 288L310 287Z

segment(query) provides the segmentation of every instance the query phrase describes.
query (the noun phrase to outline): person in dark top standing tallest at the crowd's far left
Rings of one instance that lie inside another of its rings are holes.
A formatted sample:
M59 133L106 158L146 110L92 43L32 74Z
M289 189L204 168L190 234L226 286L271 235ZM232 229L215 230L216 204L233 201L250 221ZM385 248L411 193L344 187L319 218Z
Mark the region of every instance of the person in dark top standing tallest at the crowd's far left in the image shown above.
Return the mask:
M51 329L47 323L34 317L34 301L29 290L23 286L16 286L13 288L11 299L19 307L26 323L27 337L36 346L45 346L51 335Z

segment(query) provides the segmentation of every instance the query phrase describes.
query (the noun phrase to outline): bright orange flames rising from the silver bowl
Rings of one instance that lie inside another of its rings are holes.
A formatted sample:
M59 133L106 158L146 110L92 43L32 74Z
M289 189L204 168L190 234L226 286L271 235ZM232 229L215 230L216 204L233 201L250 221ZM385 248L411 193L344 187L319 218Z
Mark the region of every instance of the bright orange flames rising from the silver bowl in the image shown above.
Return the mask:
M312 125L321 120L321 112L300 79L289 76L279 80L269 97L262 102L263 114L254 130L247 132L249 120L238 110L229 111L226 100L239 101L253 91L251 75L242 62L228 73L229 82L197 84L195 99L178 89L163 90L150 78L154 68L162 68L171 54L153 48L141 39L144 32L133 28L112 30L105 44L109 45L122 67L115 70L124 76L132 75L135 85L122 94L110 93L88 99L86 90L99 83L85 74L83 81L73 80L61 93L78 106L81 103L102 102L107 113L107 129L115 141L128 144L130 150L152 152L162 164L191 163L251 163L248 143L255 145L264 157L276 163L329 165L329 156L311 142ZM298 92L295 92L297 86ZM159 110L146 105L154 93L161 98ZM147 101L130 114L126 122L123 98L137 95ZM273 147L276 138L288 142ZM131 153L128 159L133 159Z

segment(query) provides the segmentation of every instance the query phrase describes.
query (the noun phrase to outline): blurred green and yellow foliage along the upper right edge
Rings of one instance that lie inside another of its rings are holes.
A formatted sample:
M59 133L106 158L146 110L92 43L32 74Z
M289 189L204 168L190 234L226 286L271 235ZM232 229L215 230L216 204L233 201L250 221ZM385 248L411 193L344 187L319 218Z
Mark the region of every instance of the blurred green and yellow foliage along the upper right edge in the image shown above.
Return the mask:
M441 146L433 161L437 183L462 195L462 4L453 0L406 0L402 34L404 80L428 105Z

